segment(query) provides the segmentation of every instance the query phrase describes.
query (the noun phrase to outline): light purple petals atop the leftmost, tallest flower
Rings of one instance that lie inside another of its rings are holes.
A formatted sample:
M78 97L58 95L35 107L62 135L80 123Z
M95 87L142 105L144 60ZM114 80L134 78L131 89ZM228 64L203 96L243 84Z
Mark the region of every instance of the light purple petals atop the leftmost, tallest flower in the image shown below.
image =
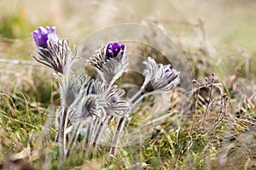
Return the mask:
M37 31L32 32L32 36L38 48L48 48L48 41L58 42L58 37L55 33L55 27L46 28L40 26Z

